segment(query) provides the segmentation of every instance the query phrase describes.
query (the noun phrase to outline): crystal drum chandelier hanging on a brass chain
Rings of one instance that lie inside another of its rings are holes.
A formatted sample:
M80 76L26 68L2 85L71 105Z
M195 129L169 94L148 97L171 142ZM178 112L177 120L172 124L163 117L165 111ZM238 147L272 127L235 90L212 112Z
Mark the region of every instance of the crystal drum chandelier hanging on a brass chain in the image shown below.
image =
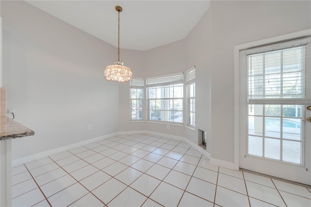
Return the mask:
M105 78L108 81L127 82L132 80L132 71L123 66L120 61L120 12L122 12L122 7L116 6L116 11L118 12L118 61L115 61L114 65L106 67Z

